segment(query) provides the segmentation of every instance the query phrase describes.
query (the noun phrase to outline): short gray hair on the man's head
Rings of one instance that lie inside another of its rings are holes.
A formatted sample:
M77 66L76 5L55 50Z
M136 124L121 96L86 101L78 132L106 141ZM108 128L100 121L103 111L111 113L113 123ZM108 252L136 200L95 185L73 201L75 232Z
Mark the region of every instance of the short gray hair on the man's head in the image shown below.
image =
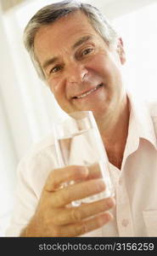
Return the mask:
M98 32L102 38L104 38L106 44L110 45L115 43L115 39L118 37L114 28L109 24L109 21L104 17L104 15L102 15L97 8L90 4L69 0L59 3L52 3L43 7L31 18L24 31L25 48L31 56L31 61L36 68L36 72L43 80L45 80L45 74L42 71L42 67L37 60L34 50L34 39L36 32L42 26L48 26L54 21L59 20L59 18L74 13L76 10L81 10L83 14L87 15L89 22L95 31Z

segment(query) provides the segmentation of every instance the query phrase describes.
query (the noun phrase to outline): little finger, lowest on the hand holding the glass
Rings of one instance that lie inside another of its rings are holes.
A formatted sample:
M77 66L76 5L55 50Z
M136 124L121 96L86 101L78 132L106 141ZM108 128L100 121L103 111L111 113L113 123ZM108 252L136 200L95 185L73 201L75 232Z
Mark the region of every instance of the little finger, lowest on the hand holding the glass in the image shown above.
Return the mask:
M77 224L64 225L62 226L61 233L64 236L81 236L90 231L97 230L109 223L113 219L113 215L110 212L97 215L94 218L83 220Z

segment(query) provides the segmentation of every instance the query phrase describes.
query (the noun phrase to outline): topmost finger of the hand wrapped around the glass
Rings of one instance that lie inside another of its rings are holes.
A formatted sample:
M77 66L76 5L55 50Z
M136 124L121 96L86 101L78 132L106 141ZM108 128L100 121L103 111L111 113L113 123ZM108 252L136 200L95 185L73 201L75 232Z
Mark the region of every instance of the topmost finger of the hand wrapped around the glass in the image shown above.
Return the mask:
M53 170L45 183L44 189L48 192L53 192L61 187L64 183L71 181L81 181L88 175L86 166L65 166Z

